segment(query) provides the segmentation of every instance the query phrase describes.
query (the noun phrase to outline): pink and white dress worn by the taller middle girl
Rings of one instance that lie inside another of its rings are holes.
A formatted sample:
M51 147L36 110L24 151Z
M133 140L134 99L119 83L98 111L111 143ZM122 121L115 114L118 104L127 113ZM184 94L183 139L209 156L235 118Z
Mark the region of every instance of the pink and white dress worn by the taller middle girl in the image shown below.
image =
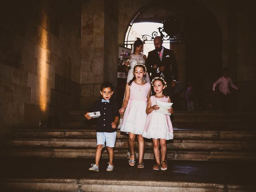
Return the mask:
M138 85L134 81L132 82L130 98L124 112L120 131L142 135L147 119L146 107L149 90L149 83Z

